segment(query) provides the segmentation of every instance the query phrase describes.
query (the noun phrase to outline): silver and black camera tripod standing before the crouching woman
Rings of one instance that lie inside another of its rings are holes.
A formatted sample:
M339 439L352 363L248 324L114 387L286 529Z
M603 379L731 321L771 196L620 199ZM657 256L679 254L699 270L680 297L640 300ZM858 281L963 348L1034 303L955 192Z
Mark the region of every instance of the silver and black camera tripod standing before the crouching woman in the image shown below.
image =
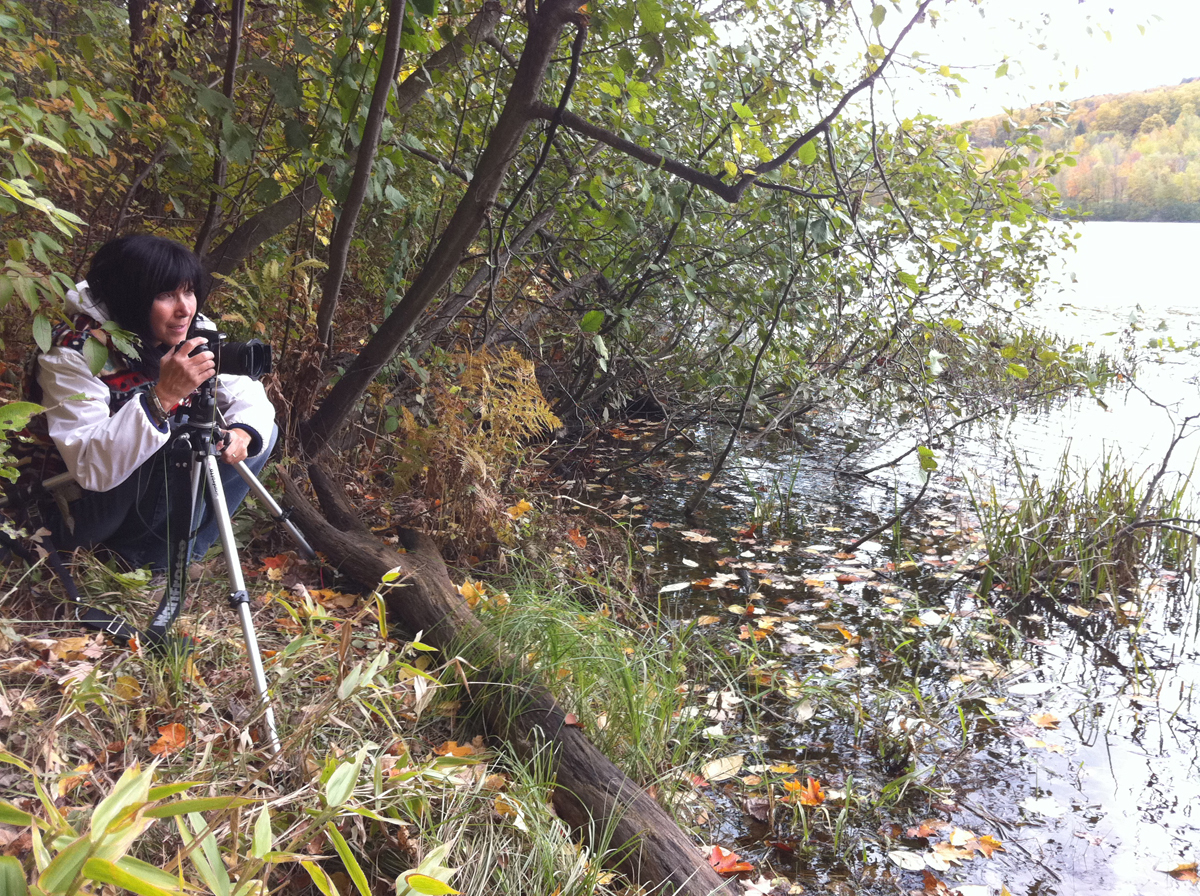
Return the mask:
M167 643L167 630L179 617L186 600L187 569L196 542L197 530L204 521L206 506L217 524L221 549L226 559L229 576L229 606L238 614L242 637L246 642L246 655L250 660L251 678L258 692L263 710L263 722L266 726L266 741L271 756L280 752L280 738L275 727L275 711L271 708L266 687L266 673L263 669L263 657L258 649L258 636L250 612L250 594L241 573L241 561L238 558L238 546L234 542L233 523L226 503L224 488L221 483L221 471L217 467L217 425L224 423L216 409L216 377L208 379L192 396L191 407L179 411L180 426L175 429L167 447L167 494L168 499L187 494L190 501L172 500L168 516L168 553L167 553L167 590L146 631L148 639ZM265 446L264 446L265 450ZM250 486L256 497L264 503L271 516L283 523L300 553L307 559L316 559L313 549L305 541L296 527L263 487L258 477L245 462L236 464L239 475ZM205 501L205 494L208 503Z

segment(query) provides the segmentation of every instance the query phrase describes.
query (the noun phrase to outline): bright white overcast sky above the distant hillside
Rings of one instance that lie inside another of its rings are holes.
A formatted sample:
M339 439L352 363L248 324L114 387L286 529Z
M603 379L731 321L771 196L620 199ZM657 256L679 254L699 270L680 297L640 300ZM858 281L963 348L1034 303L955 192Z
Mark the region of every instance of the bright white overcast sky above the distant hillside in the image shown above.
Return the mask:
M984 0L978 8L952 0L932 8L942 13L937 26L919 25L905 46L954 66L967 84L954 97L893 79L905 114L960 121L1200 77L1198 0ZM997 78L1006 56L1008 74Z

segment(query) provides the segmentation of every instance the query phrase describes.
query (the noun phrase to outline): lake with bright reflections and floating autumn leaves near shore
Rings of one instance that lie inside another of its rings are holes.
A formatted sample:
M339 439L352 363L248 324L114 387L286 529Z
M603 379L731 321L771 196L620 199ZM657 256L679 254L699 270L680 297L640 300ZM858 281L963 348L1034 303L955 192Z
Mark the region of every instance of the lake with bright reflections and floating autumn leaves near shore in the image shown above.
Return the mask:
M838 542L900 506L916 491L916 469L847 479L833 469L836 446L811 433L743 451L692 519L679 507L713 446L626 477L608 505L636 527L665 584L662 611L678 625L727 630L748 679L772 682L739 697L775 720L766 732L703 710L716 721L706 732L713 756L739 758L743 771L692 798L696 819L713 819L713 842L752 860L756 874L863 894L920 890L925 873L971 896L1187 886L1166 872L1200 858L1200 607L1190 573L1147 571L1120 597L1127 625L1103 608L1068 613L972 594L984 547L965 483L995 482L1013 497L1012 457L1049 475L1066 450L1093 463L1118 449L1140 470L1170 441L1168 411L1200 411L1196 357L1144 348L1150 338L1200 338L1188 261L1200 224L1078 229L1061 285L1030 318L1122 363L1133 348L1141 391L1114 386L1103 404L1079 396L1016 415L1001 438L989 428L960 440L943 458L953 475L902 527L852 555L834 554ZM1188 471L1198 447L1200 437L1184 440L1172 468ZM823 817L787 802L788 781L806 776L838 794ZM769 814L751 808L766 790ZM858 829L839 835L835 816ZM985 836L1003 850L964 854L964 842Z

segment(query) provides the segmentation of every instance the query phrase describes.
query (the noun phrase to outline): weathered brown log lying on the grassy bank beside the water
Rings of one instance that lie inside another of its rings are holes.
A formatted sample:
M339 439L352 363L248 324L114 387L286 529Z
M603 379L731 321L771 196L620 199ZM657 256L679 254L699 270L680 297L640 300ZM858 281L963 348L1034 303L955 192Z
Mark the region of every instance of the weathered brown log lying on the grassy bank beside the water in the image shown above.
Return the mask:
M366 588L378 588L384 573L400 570L401 578L384 591L389 620L474 667L468 696L492 733L523 759L551 757L554 811L564 822L614 847L618 870L654 892L708 896L727 886L664 808L569 726L553 694L505 656L451 583L428 536L402 530L404 552L392 551L362 524L319 464L308 469L324 516L278 474L295 523L329 563Z

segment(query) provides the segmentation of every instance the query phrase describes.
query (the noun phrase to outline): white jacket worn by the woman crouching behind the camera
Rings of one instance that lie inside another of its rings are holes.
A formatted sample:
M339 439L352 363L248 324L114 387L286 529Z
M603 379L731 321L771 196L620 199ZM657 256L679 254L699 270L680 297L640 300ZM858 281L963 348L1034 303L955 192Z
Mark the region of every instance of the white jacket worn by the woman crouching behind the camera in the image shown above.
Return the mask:
M109 319L108 309L92 297L86 282L67 293L67 312L84 313L101 323ZM54 345L41 355L37 383L47 409L49 437L67 471L83 488L92 492L115 488L170 438L169 426L155 423L142 396L113 413L109 386L91 373L76 348ZM68 399L78 395L88 401ZM262 451L275 425L275 408L263 385L248 377L221 374L216 403L230 427L250 433L252 455Z

